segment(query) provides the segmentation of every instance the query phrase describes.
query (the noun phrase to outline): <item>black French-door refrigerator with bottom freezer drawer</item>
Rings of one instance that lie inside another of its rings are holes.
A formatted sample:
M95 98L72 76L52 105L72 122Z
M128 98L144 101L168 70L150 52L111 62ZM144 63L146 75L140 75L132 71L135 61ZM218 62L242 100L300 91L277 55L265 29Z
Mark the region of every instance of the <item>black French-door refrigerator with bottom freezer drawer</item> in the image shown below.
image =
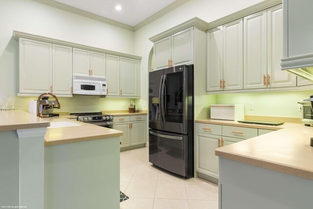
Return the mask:
M193 65L149 73L149 162L194 175Z

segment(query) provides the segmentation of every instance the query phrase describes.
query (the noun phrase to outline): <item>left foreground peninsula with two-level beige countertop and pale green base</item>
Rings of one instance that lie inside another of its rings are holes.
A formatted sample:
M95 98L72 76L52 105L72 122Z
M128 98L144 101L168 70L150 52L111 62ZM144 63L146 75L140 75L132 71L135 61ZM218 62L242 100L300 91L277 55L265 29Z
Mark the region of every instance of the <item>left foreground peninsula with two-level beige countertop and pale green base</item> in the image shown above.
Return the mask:
M0 111L0 203L33 209L119 208L123 132L75 121L47 127L23 111ZM5 188L5 189L3 189Z

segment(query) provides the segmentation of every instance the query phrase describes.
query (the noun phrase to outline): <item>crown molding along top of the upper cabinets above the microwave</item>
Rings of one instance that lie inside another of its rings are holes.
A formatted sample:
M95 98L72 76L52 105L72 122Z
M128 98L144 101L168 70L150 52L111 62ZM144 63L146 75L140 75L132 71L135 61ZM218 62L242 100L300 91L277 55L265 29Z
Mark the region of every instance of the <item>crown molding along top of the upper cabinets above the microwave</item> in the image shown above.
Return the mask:
M116 55L116 56L141 60L141 57L135 56L132 54L125 54L125 53L111 51L111 50L107 50L107 49L103 49L103 48L97 48L97 47L93 47L93 46L76 44L76 43L72 43L72 42L62 41L62 40L53 39L53 38L47 38L44 36L38 36L38 35L34 35L34 34L30 34L30 33L24 33L24 32L15 31L15 30L13 31L13 37L16 40L19 40L19 38L26 38L26 39L36 40L36 41L47 42L47 43L51 43L51 44L58 44L58 45L62 45L62 46L82 48L82 49L86 49L89 51L96 51L96 52L100 52L100 53L112 54L112 55Z

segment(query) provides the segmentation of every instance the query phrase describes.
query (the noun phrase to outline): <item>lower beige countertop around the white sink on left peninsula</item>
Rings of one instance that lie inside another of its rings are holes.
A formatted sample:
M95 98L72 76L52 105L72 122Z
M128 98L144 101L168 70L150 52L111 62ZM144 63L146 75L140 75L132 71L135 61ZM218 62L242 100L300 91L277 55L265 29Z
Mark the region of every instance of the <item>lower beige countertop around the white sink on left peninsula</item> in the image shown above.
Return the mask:
M88 123L70 120L64 117L49 117L47 120L53 121L72 121L81 124L81 126L48 128L45 134L45 146L65 144L94 139L105 139L119 137L123 135L122 131L110 128L91 125Z

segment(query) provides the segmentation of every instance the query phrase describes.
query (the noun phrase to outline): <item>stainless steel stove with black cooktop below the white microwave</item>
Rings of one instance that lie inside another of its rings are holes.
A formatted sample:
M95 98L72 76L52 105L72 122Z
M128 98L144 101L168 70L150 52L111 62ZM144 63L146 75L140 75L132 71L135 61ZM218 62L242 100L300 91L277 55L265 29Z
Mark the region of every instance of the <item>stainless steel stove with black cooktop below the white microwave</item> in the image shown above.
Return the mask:
M92 125L98 125L106 128L113 127L113 116L108 114L96 113L71 113L71 116L77 116L77 120Z

